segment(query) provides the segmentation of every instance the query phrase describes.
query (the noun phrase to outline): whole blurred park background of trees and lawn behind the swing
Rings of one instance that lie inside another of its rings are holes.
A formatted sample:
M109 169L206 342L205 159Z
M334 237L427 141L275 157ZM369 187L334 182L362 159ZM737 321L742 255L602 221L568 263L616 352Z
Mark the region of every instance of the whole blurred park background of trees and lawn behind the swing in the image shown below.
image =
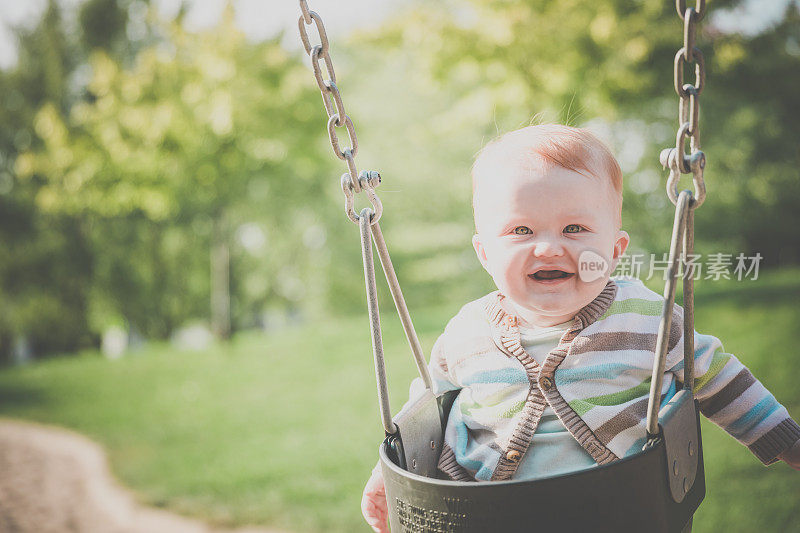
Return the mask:
M623 168L630 253L667 251L673 3L309 3L426 350L492 289L469 169L500 133L591 128ZM0 2L0 415L90 436L149 505L361 531L382 433L359 239L298 16L289 0ZM734 263L698 282L697 328L798 419L800 2L714 1L700 28L697 250ZM737 254L760 254L757 276L736 279ZM381 296L398 408L414 370ZM695 531L800 531L800 476L704 431Z

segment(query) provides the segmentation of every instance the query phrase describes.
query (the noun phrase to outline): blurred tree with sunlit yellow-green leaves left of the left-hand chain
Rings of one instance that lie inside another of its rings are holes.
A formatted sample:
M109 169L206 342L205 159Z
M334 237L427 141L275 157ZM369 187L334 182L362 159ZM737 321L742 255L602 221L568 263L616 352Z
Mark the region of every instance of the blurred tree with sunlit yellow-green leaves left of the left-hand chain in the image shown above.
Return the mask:
M131 67L94 53L90 98L68 115L43 107L43 148L21 154L16 170L44 180L39 209L88 219L104 314L164 337L207 316L201 302L211 300L225 337L236 229L262 223L274 249L296 245L310 218L297 200L315 208L320 169L329 165L309 149L308 139L318 138L318 95L279 38L245 40L230 6L216 28L190 33L177 20L164 33ZM298 249L290 261L299 277L314 274L306 253ZM288 258L266 259L264 278L280 279ZM290 300L280 290L266 283L237 301Z

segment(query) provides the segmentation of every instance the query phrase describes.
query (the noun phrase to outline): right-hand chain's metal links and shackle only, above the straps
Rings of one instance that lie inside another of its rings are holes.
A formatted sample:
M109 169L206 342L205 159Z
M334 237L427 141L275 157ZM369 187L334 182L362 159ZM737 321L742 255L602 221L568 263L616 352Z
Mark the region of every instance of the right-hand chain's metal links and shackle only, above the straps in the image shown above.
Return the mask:
M683 46L675 54L674 75L675 92L678 93L678 131L675 135L675 148L661 152L661 164L669 167L667 195L677 205L678 185L681 174L692 174L694 194L691 209L700 207L705 200L706 187L703 172L706 165L705 154L700 150L700 94L706 85L706 67L703 52L696 43L696 23L706 12L705 0L697 0L695 7L686 7L686 0L675 0L675 8L683 20ZM694 82L684 83L686 64L694 63ZM689 152L686 153L686 140Z

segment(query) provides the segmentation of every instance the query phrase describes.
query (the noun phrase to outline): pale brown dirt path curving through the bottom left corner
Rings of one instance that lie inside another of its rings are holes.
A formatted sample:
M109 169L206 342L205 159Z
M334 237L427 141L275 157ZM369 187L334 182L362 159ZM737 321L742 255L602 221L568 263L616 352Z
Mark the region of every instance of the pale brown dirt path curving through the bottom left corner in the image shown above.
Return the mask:
M0 420L0 532L278 533L220 530L144 507L113 479L94 442L11 420Z

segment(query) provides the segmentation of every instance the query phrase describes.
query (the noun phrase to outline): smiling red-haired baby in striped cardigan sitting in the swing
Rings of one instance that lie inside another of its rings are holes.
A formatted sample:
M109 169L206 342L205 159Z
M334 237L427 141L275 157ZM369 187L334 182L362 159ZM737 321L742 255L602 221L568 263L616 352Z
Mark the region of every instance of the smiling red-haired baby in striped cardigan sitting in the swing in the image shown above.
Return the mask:
M472 178L472 244L498 291L465 305L433 348L434 393L459 391L439 469L534 479L637 453L663 298L609 277L630 242L619 164L586 130L530 126L487 145ZM607 268L583 272L585 257ZM682 316L676 306L663 403L684 379ZM718 339L695 333L694 372L705 416L764 464L800 469L800 426ZM362 512L388 531L379 466Z

